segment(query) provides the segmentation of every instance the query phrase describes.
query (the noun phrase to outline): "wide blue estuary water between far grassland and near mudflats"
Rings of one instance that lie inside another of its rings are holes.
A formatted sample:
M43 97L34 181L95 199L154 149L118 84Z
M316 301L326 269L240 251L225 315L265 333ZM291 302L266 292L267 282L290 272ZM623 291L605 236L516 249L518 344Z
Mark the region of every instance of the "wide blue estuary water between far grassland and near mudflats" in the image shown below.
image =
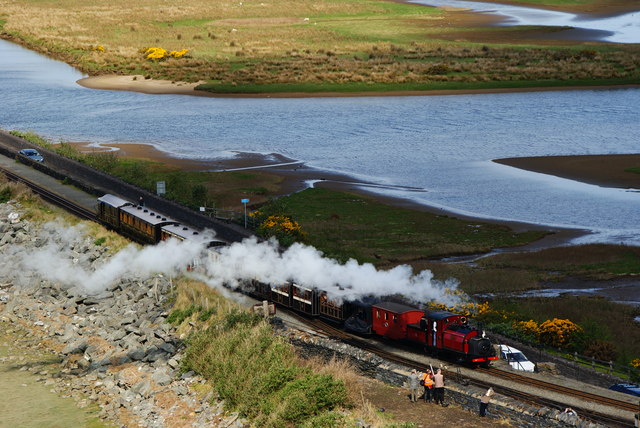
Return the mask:
M246 99L87 89L71 67L0 41L0 127L54 141L152 144L177 157L278 153L481 218L640 245L640 191L491 162L640 152L640 89ZM411 188L408 190L407 188Z

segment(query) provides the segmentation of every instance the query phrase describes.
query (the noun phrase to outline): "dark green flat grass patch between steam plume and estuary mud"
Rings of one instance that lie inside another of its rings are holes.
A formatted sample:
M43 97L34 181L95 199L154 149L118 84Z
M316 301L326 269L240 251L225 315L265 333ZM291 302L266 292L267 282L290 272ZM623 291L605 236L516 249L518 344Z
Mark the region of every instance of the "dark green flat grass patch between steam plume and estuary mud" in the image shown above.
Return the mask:
M402 209L327 189L307 189L264 210L295 218L307 243L329 257L380 266L523 245L547 234L516 233L506 226Z

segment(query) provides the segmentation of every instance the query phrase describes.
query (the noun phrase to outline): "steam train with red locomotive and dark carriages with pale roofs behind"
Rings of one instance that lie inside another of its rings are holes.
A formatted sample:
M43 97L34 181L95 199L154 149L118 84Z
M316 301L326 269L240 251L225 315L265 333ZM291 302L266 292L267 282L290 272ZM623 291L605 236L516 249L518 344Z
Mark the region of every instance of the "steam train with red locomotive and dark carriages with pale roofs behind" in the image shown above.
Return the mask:
M212 251L226 242L181 224L163 214L114 195L98 198L98 220L107 227L143 244L162 240L198 240ZM446 311L424 311L397 299L367 298L335 302L315 288L294 282L265 284L253 280L243 291L260 300L318 317L360 335L410 342L428 353L457 361L487 365L498 359L489 338L469 324L466 317Z

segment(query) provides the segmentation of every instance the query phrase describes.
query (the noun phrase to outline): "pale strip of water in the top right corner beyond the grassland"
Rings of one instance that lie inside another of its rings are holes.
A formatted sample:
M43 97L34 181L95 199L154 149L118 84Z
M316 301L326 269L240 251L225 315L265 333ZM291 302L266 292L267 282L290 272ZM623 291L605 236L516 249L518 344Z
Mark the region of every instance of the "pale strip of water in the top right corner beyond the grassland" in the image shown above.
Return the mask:
M589 32L581 33L581 40L640 43L639 12L603 18L531 7L464 0L411 0L410 3L438 7L450 6L469 9L478 13L499 15L505 18L499 25L543 25L589 30Z

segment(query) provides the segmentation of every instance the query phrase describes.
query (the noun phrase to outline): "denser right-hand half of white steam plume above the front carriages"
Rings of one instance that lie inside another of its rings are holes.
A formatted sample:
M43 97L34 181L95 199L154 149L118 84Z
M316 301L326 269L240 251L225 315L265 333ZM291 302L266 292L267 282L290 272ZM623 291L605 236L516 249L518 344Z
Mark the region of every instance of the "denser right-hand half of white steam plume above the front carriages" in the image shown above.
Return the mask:
M222 247L220 254L207 265L205 280L211 286L241 286L241 281L248 279L268 284L282 284L290 280L326 291L330 298L336 300L401 294L418 303L435 300L452 305L458 302L458 298L447 291L457 288L457 280L436 281L428 270L414 275L407 265L377 270L370 263L359 264L353 259L340 264L323 257L317 249L302 244L293 244L280 252L276 241L245 239Z

